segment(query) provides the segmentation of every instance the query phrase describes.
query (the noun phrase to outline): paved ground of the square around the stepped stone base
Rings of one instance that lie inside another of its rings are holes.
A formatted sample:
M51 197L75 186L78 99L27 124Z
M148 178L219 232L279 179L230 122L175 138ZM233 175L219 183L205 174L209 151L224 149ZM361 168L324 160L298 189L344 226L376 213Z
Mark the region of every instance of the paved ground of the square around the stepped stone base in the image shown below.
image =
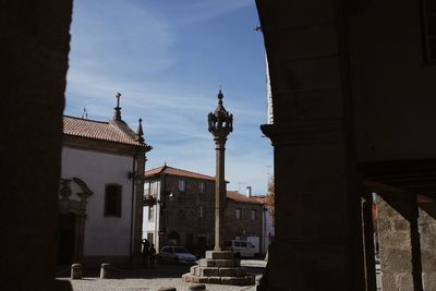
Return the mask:
M251 274L256 275L256 281L265 267L264 260L242 260L241 264ZM85 269L82 280L70 280L70 270L58 272L58 279L69 280L74 291L155 291L160 287L175 287L178 291L189 290L190 283L182 282L181 276L189 272L190 266L157 265L155 269L116 269L114 279L99 279L98 269ZM255 286L220 286L206 284L209 291L255 291Z

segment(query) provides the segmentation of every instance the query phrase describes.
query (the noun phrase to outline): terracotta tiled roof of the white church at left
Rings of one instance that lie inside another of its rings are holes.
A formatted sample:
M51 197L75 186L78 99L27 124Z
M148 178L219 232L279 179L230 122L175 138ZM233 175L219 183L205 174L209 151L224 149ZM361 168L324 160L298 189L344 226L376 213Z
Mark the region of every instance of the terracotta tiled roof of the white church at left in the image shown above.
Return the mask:
M64 116L63 134L147 147L146 144L136 142L136 134L120 121L102 122Z

